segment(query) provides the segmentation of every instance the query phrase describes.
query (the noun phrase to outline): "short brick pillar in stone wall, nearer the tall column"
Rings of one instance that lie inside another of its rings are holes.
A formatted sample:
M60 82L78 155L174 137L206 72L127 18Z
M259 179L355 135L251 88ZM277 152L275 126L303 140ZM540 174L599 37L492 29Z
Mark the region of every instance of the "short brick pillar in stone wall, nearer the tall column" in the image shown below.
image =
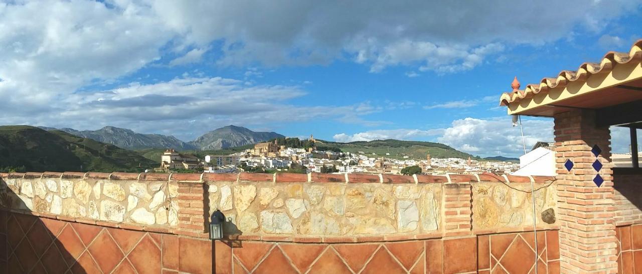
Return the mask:
M472 193L469 183L444 184L444 236L471 234Z

